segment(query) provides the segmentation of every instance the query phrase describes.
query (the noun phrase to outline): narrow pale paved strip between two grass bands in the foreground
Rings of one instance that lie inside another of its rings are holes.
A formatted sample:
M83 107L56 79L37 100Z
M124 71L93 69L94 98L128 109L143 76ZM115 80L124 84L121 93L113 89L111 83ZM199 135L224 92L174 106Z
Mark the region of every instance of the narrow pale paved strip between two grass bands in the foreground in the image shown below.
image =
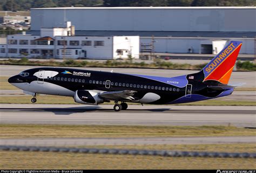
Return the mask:
M185 138L16 138L1 139L0 145L19 146L107 146L107 145L193 145L255 143L255 136L213 136Z

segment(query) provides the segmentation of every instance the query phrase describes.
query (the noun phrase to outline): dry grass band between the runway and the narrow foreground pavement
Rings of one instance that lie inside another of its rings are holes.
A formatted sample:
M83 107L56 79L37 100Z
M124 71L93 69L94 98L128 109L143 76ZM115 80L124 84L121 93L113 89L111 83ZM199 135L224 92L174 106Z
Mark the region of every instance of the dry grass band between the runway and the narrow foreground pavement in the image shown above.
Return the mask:
M0 124L0 138L252 136L255 129L233 126L12 125Z

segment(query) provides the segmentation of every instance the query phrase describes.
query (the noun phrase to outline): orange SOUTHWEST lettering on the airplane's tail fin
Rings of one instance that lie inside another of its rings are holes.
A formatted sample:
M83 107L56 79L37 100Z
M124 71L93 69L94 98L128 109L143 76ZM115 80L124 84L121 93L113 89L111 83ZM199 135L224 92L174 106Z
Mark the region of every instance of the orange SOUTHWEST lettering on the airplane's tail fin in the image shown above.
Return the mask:
M233 44L233 42L230 44L230 46L227 46L227 48L221 53L219 54L218 57L215 58L215 60L208 65L208 67L205 68L207 73L211 73L212 70L215 69L215 67L218 67L218 65L223 62L223 60L225 60L225 58L230 55L230 53L232 53L232 51L234 50L235 46Z

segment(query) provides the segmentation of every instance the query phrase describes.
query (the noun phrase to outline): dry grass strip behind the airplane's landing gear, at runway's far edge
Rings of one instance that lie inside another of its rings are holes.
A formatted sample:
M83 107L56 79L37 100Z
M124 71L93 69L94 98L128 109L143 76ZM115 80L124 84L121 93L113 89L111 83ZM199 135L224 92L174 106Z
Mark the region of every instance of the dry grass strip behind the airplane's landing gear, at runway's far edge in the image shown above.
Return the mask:
M9 103L9 104L31 104L32 96L21 95L21 96L4 96L0 97L1 103ZM64 96L51 96L51 95L38 95L37 103L34 104L76 104L72 97L64 97ZM104 103L104 104L114 104ZM129 103L137 104L137 103ZM256 102L246 101L246 100L204 100L200 102L192 102L185 104L177 104L177 105L227 105L227 106L255 106Z

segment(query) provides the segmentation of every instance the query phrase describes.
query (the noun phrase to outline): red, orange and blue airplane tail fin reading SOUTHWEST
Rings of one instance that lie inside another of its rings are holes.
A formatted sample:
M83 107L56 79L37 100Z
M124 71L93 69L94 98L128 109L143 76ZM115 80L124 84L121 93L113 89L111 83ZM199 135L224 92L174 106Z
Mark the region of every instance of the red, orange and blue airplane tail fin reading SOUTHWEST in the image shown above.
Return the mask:
M231 41L218 55L216 55L201 71L205 81L218 81L228 84L235 61L239 54L242 42Z

